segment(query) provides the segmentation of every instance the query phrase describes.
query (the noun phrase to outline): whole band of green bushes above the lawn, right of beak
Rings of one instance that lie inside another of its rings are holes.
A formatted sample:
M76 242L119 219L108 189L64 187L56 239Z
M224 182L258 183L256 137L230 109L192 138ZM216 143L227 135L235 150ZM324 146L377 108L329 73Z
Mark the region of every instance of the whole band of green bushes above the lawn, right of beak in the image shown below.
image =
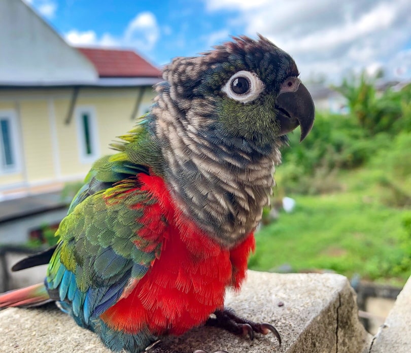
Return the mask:
M411 85L377 94L372 80L362 75L344 81L338 90L346 96L350 114L318 113L302 144L298 133L289 136L291 148L283 149L278 170L287 193L338 191L333 176L339 170L371 160L374 167L399 178L411 174Z

